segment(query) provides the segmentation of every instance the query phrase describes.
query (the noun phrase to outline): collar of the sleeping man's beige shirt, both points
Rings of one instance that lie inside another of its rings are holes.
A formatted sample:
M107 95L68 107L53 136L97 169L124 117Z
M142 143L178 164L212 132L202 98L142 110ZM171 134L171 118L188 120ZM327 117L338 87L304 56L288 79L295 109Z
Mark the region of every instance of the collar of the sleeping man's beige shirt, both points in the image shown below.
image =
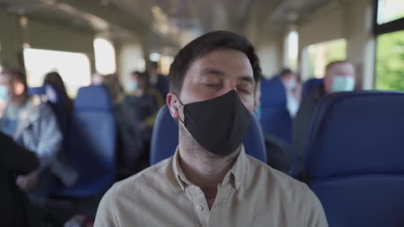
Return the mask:
M226 185L231 182L233 187L239 189L242 185L242 181L244 180L245 172L246 172L246 163L247 157L244 151L244 146L241 146L241 150L238 154L236 162L234 163L231 170L226 174L222 185ZM179 165L179 147L175 150L175 155L173 157L173 171L175 174L175 178L179 183L179 186L184 191L188 185L193 185L185 176L184 172ZM231 181L233 179L233 181Z

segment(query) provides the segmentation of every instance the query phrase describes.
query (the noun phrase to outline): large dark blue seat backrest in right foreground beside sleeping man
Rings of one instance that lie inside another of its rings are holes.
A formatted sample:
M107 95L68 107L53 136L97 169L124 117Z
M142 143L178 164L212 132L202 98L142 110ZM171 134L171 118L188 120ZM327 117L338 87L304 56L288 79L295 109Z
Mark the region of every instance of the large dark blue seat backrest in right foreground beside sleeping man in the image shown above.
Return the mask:
M404 226L404 93L342 92L318 105L309 186L329 226Z

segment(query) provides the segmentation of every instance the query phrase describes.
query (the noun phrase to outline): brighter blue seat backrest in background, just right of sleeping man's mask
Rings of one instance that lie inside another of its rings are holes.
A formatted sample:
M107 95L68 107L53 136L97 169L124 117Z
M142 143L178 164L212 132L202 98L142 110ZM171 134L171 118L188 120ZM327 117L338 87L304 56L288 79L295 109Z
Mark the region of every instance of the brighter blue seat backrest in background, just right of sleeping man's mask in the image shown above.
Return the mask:
M286 108L286 90L280 77L261 82L261 126L264 133L292 141L292 118Z

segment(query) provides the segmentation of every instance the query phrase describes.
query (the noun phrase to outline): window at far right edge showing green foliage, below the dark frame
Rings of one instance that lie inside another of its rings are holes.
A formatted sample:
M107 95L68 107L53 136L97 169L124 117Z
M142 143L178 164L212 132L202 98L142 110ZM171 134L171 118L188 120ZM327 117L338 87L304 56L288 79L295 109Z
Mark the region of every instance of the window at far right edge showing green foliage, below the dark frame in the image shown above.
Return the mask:
M404 31L377 36L376 89L404 90Z

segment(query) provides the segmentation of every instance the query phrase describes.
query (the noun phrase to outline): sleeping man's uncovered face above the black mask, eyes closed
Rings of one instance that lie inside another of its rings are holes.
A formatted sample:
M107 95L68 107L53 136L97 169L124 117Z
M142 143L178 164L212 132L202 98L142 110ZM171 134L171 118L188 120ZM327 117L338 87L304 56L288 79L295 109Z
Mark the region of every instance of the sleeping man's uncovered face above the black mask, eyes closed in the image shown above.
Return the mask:
M223 49L213 51L191 64L179 98L186 105L235 90L244 106L252 113L254 86L253 68L247 56L241 51ZM173 104L177 109L182 107L178 102L174 101ZM182 111L180 117L184 119Z

